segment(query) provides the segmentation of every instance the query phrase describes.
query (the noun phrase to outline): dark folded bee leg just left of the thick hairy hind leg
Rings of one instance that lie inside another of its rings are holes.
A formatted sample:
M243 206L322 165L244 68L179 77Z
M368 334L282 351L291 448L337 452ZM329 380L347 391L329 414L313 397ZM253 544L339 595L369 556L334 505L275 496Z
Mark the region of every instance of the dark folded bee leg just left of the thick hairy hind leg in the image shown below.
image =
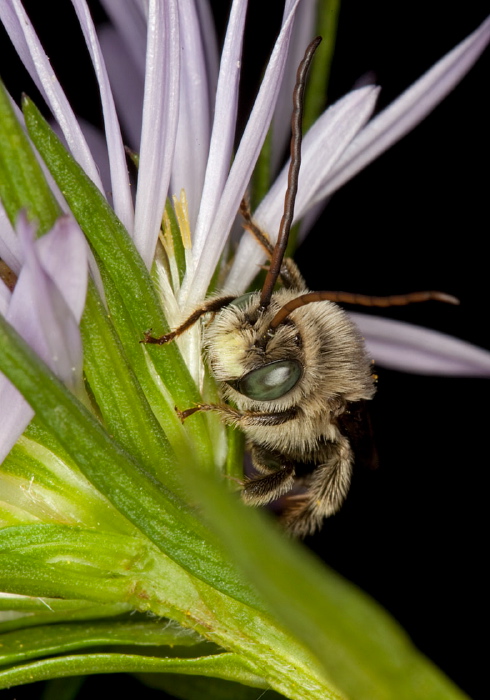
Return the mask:
M292 489L296 473L294 462L257 446L252 448L252 460L262 476L245 481L242 499L247 505L265 505Z

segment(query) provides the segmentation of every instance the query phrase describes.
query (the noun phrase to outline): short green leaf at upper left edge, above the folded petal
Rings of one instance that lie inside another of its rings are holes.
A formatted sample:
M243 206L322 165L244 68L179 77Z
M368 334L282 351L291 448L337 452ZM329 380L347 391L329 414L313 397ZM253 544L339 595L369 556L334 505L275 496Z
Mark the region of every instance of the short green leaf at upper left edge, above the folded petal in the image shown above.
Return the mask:
M48 231L61 213L1 81L0 199L12 224L26 209L29 219L37 220L40 233Z

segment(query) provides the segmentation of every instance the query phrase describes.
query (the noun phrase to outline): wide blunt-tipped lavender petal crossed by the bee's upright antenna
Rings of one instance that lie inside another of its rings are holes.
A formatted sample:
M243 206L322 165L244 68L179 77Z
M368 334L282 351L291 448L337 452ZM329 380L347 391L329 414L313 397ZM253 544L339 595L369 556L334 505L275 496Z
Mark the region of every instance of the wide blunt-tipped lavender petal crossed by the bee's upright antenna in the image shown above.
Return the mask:
M295 220L304 216L312 206L319 184L328 177L339 157L371 116L377 95L378 88L374 86L350 92L327 109L305 135ZM289 162L254 213L254 220L273 242L277 238L284 208L288 168ZM233 292L246 289L263 262L264 253L257 242L250 235L243 236L226 280L226 289Z

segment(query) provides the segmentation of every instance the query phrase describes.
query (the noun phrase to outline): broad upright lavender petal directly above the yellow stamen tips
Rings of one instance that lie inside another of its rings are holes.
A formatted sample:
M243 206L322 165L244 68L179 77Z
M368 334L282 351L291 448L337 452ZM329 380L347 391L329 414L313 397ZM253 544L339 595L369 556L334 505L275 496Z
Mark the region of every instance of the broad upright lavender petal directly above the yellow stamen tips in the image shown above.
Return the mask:
M180 0L180 104L170 194L185 189L191 231L196 227L211 135L203 37L193 0Z

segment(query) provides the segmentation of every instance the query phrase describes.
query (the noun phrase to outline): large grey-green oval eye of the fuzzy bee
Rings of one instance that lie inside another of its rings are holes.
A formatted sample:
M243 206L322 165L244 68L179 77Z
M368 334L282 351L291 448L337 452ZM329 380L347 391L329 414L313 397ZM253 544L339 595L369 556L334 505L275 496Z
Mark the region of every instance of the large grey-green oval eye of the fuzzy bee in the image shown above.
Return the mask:
M302 374L303 368L298 360L278 360L251 370L232 386L249 399L271 401L287 394Z

